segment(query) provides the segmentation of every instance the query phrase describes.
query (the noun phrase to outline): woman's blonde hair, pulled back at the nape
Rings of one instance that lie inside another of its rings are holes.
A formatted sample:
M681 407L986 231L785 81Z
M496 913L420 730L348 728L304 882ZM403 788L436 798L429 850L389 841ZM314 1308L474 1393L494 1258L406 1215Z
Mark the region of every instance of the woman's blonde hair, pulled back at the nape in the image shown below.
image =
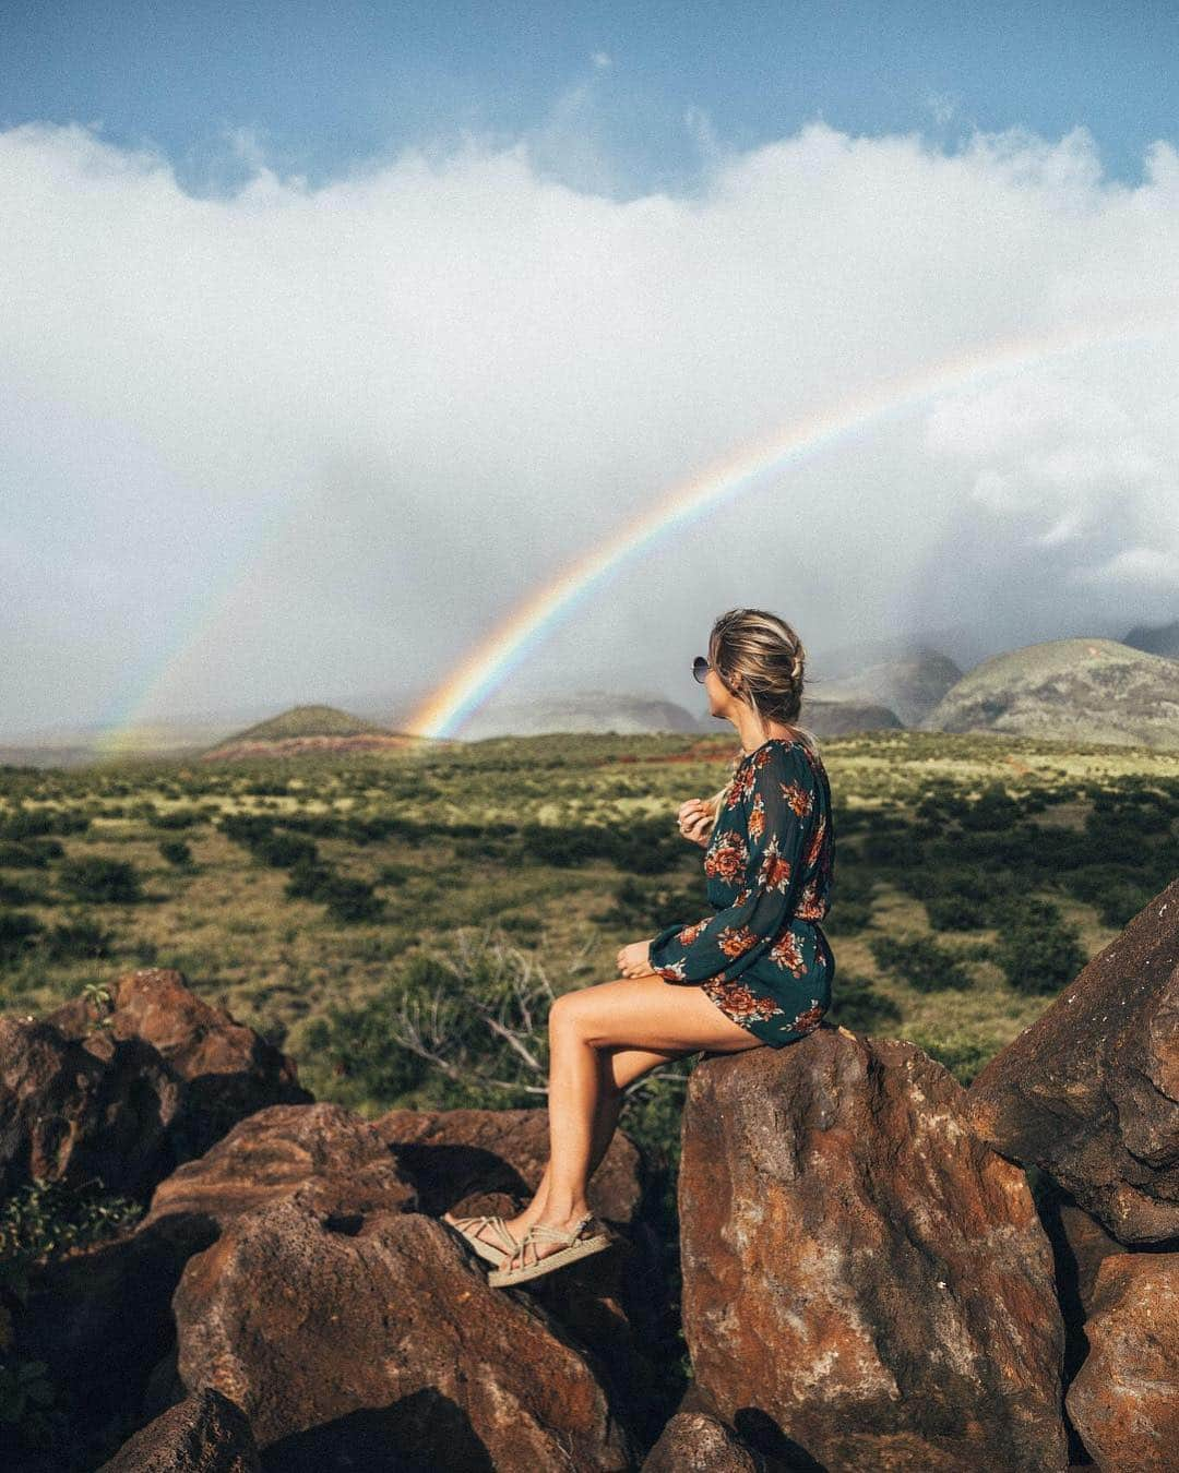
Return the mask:
M741 691L734 692L737 700L753 707L762 725L769 720L781 722L818 753L815 734L800 726L797 719L802 710L806 650L784 619L763 608L730 608L712 626L709 664L730 689L741 685ZM709 798L713 829L728 787L725 784Z

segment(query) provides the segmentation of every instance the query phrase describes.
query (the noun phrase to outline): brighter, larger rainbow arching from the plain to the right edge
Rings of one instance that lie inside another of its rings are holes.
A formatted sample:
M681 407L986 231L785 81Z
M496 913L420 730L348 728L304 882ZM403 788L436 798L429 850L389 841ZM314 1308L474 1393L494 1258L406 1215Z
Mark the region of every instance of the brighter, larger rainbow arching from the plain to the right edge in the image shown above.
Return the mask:
M420 736L451 736L491 692L569 616L594 586L631 554L662 533L672 532L746 491L758 476L791 457L812 454L893 411L903 411L987 374L1026 367L1045 358L1077 352L1098 343L1127 342L1173 330L1179 306L1086 323L1036 337L1010 337L970 354L943 358L931 367L872 384L840 399L818 414L799 420L753 445L744 445L712 463L690 480L628 521L604 542L564 567L557 577L529 595L451 670L447 679L411 713L399 729Z

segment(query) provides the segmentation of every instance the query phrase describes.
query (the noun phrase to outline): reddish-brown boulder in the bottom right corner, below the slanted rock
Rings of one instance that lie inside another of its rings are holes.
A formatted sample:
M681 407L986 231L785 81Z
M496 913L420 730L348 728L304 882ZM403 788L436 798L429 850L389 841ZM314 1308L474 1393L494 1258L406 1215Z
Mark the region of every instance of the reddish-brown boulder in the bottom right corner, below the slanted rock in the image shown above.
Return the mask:
M1089 1355L1066 1393L1096 1466L1179 1467L1179 1254L1101 1261L1085 1326Z

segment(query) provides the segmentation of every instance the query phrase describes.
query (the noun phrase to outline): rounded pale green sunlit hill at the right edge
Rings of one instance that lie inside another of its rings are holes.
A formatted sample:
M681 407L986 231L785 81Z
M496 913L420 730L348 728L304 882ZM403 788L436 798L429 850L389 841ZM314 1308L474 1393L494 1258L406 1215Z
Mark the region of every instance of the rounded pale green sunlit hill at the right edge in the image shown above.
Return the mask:
M1046 639L983 660L918 725L1179 747L1179 660L1119 639Z

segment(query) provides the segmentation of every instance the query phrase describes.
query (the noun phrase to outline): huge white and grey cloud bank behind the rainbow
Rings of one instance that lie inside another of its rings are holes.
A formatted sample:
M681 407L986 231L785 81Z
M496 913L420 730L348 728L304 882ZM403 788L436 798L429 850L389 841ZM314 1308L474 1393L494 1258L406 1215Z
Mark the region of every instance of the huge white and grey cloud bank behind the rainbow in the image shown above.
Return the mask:
M619 197L606 74L315 190L249 130L202 199L80 125L0 134L0 726L429 686L741 446L1176 299L1164 141L1130 187L1083 128L737 152L694 110L699 187ZM954 626L959 658L1175 617L1178 367L1147 334L849 418L619 564L505 698L625 667L699 706L738 602L812 650Z

